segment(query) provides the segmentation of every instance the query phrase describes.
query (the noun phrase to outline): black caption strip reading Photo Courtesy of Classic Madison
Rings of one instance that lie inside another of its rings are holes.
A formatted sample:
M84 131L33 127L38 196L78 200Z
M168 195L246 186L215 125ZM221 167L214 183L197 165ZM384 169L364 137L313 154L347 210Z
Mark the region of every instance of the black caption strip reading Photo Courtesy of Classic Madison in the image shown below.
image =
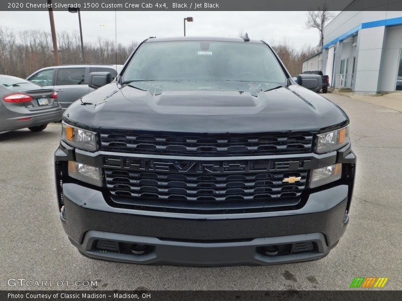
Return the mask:
M349 290L13 290L0 291L2 301L303 301L303 300L353 300L394 301L402 297L400 290L350 288Z

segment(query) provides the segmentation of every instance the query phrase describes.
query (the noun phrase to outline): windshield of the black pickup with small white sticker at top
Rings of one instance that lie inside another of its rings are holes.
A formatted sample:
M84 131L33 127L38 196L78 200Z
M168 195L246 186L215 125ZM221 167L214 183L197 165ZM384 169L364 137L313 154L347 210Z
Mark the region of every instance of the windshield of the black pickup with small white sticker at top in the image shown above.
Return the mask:
M150 42L135 53L123 82L208 80L286 85L286 76L265 44Z

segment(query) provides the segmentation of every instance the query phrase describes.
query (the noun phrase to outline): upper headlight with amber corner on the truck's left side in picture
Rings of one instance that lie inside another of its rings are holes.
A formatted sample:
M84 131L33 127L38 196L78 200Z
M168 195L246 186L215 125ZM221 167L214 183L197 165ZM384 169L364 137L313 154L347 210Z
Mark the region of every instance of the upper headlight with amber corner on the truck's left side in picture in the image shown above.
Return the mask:
M96 133L63 122L61 138L77 148L96 150Z

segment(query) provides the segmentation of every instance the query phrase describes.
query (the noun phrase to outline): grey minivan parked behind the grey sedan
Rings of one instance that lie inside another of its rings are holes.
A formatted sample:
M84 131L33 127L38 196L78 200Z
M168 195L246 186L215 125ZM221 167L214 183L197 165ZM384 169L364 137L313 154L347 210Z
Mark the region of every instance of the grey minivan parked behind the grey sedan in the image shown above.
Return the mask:
M112 79L121 71L123 65L62 65L42 68L27 77L27 80L42 87L54 89L58 100L65 110L83 95L93 91L88 86L88 76L91 72L110 72Z

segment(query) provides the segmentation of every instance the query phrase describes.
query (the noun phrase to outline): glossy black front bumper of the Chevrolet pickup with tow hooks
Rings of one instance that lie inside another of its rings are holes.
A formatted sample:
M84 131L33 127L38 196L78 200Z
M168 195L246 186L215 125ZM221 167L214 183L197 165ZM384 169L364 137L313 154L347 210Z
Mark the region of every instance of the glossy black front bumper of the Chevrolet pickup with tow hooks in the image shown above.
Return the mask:
M62 145L55 160L99 166L102 160L98 157L103 155ZM312 168L334 163L354 167L356 163L350 145L331 154L305 157L311 159ZM301 208L270 212L202 214L122 208L111 206L102 190L77 182L58 186L58 195L64 231L89 257L191 266L278 264L322 258L338 243L349 221L353 179L354 175L312 190ZM56 185L58 180L56 168ZM115 243L117 250L99 248L99 240ZM314 248L276 256L261 252L263 246L290 246L293 250L303 243ZM150 249L143 255L126 252L132 244Z

